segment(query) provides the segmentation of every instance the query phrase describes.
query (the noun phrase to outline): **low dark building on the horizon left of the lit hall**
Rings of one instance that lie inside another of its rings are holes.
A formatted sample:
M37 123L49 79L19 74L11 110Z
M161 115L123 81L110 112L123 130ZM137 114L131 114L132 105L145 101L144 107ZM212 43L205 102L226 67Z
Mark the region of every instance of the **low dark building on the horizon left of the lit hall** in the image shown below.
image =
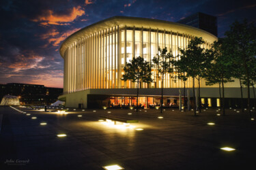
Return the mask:
M49 88L38 84L0 84L1 98L4 95L18 96L22 105L49 105L55 103L62 92L63 88Z

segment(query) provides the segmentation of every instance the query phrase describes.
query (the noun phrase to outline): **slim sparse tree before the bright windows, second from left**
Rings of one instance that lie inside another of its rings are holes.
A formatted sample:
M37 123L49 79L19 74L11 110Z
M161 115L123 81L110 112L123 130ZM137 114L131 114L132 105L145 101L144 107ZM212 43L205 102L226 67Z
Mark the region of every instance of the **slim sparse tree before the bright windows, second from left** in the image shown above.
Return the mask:
M172 69L171 69L171 58L173 58L173 55L171 54L171 52L167 52L167 48L164 49L158 49L158 52L160 54L158 54L157 56L154 56L154 58L152 59L152 63L154 65L154 67L156 68L157 72L157 76L158 78L161 79L161 99L160 99L160 103L161 103L161 108L160 108L160 112L162 113L162 104L163 104L163 82L164 82L164 77L166 75L166 73L171 73Z

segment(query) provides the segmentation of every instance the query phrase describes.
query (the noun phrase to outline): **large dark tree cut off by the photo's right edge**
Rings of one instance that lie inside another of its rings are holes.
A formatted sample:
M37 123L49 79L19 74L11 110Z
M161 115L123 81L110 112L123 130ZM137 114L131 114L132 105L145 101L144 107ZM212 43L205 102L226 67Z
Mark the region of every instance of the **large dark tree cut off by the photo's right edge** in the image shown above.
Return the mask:
M233 59L239 63L244 70L244 80L247 86L247 109L251 117L250 106L250 78L251 72L249 64L256 54L256 27L254 23L248 23L246 20L243 22L233 22L230 30L225 33L227 36L227 50L231 54L235 54Z

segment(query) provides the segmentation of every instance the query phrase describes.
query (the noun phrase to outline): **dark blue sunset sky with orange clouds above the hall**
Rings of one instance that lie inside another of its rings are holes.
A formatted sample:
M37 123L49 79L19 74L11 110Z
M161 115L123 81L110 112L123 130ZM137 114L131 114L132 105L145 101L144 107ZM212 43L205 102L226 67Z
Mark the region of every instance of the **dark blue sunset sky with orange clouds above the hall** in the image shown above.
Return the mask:
M218 17L218 37L235 20L256 21L255 1L1 0L0 84L63 87L59 46L79 29L112 16L176 22L195 12Z

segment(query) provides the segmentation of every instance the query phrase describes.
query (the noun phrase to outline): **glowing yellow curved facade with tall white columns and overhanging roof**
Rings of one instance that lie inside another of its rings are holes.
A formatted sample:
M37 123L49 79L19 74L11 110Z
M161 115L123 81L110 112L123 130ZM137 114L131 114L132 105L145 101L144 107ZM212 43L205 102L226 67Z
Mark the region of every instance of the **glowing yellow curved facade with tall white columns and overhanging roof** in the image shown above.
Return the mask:
M60 54L64 59L64 94L59 97L68 107L77 107L78 103L87 107L87 95L134 95L136 83L122 81L124 67L133 56L143 56L151 61L158 48L171 50L175 56L178 48L186 48L193 37L202 37L204 48L217 37L194 27L175 22L115 16L91 24L70 35L61 44ZM143 88L141 95L154 94L153 89L161 88L160 80L153 71L154 82ZM164 88L178 90L183 87L181 80L173 81L167 74ZM192 79L186 82L192 88ZM205 85L202 84L202 88ZM177 96L177 92L169 96ZM160 93L158 93L160 95Z

